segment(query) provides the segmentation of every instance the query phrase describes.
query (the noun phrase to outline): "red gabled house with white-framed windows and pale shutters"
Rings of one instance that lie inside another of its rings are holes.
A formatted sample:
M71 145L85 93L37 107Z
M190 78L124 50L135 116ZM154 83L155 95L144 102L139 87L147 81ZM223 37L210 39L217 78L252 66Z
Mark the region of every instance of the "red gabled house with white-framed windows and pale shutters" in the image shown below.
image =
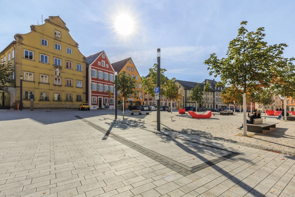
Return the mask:
M114 107L115 71L104 51L90 55L86 60L86 100L90 109ZM112 92L109 98L107 90Z

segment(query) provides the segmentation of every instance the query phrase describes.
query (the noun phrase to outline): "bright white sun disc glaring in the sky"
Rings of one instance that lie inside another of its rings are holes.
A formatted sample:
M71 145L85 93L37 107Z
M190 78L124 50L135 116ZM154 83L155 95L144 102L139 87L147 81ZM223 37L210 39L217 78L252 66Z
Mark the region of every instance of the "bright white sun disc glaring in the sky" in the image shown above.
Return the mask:
M133 19L127 14L120 14L116 18L115 27L119 34L128 35L133 31Z

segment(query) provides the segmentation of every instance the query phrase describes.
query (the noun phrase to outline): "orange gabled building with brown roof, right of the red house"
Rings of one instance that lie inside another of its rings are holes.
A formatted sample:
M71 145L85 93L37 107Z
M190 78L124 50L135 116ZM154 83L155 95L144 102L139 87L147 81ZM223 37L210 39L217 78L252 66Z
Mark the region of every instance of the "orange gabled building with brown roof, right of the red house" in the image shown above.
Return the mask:
M137 97L134 98L133 95L130 95L129 98L125 98L125 105L126 107L131 107L132 105L144 105L144 94L143 90L141 89L142 81L140 78L140 75L134 65L134 62L131 58L123 59L119 62L112 63L112 66L115 71L121 73L122 71L125 71L126 74L130 74L131 77L136 78L136 90L138 91ZM118 106L122 106L123 104L123 98L118 99ZM128 104L128 105L127 105Z

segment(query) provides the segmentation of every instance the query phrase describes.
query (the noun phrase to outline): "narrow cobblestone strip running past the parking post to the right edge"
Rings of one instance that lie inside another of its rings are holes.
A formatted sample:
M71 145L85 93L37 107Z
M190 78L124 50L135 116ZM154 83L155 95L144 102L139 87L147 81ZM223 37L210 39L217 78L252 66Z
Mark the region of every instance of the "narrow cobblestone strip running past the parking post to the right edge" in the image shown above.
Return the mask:
M128 121L135 122L134 120L128 120ZM128 124L128 123L124 123L124 124ZM144 124L148 124L148 123L144 123ZM130 124L128 124L128 125L130 125ZM152 124L148 124L148 125L155 127L155 125L152 125ZM261 150L265 150L265 151L271 151L271 152L280 153L280 154L284 154L284 155L295 156L295 152L282 151L282 150L279 150L279 149L274 149L274 148L269 148L269 147L264 147L264 146L257 146L257 145L253 145L253 144L250 144L250 143L237 142L237 141L234 141L234 140L224 139L224 138L220 138L220 137L214 137L213 138L213 137L210 137L210 136L207 136L207 135L196 135L196 134L191 134L191 133L188 133L188 132L185 132L185 131L178 131L178 130L174 130L174 129L173 130L168 129L166 127L162 127L161 129L167 130L167 131L173 131L173 132L177 132L177 133L181 133L181 134L186 134L186 135L200 136L200 137L203 137L203 138L206 138L206 139L213 139L213 140L217 140L217 141L226 141L226 142L229 142L229 143L238 144L238 145L245 146L245 147L257 148L257 149L261 149Z

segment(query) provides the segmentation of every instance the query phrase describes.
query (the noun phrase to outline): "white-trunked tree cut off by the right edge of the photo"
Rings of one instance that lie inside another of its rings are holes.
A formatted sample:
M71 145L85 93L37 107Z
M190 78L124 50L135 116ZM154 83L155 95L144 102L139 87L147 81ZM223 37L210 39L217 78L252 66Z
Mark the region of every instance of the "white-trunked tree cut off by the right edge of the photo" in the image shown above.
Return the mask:
M277 61L277 66L274 70L276 81L273 85L273 90L276 95L284 97L284 120L287 121L287 98L295 96L295 67L293 64L294 58L280 58Z

